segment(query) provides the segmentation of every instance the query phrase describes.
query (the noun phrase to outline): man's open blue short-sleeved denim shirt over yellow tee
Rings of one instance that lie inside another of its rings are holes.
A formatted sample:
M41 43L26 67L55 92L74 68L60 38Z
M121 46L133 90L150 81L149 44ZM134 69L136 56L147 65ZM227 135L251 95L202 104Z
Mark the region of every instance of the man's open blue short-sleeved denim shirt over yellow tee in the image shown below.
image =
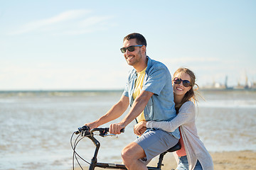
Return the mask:
M169 69L163 63L151 60L148 56L147 59L148 62L142 91L150 91L154 95L151 96L144 108L144 117L146 121L172 120L176 116L176 111ZM134 93L136 79L136 69L132 69L129 72L128 81L123 92L124 96L129 97L130 106L134 102L132 94ZM179 139L178 129L171 133Z

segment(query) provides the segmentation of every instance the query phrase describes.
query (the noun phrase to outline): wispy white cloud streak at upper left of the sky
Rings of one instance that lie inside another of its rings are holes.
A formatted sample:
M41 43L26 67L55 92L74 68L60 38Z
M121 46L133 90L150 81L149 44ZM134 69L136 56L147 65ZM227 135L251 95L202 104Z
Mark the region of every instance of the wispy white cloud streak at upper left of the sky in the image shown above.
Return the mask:
M26 23L9 35L21 35L31 32L51 31L52 34L84 34L95 30L97 25L105 24L110 16L87 16L89 10L71 10L59 13L57 16ZM95 28L94 28L95 26ZM97 29L99 30L99 29Z

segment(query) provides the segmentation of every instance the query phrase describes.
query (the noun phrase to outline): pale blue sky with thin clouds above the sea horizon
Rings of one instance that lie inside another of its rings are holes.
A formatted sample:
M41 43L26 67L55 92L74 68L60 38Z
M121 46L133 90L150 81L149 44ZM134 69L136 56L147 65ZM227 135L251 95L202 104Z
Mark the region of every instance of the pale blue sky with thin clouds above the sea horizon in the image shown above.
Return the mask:
M196 83L256 81L256 1L0 0L0 90L124 89L123 38Z

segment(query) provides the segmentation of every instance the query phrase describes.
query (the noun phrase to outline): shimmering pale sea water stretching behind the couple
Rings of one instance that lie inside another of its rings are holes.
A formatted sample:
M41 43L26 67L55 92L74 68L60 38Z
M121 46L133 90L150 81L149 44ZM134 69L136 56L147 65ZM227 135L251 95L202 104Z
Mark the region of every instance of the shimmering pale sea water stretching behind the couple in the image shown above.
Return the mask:
M0 169L72 169L71 135L105 114L121 95L122 91L2 91ZM208 151L256 151L256 91L201 91L201 96L196 125ZM117 138L97 137L102 144L100 161L121 162L122 148L136 139L134 124ZM94 148L84 139L76 151L90 161Z

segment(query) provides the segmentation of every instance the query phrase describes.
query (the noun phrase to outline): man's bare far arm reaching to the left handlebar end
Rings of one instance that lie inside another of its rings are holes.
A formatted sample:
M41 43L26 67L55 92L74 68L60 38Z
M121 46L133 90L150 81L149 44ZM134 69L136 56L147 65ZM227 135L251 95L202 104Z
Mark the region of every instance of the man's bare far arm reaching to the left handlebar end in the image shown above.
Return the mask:
M90 129L97 128L100 125L110 122L111 120L119 118L124 111L127 110L129 106L129 98L127 96L123 96L120 100L110 108L110 111L107 111L105 115L102 115L98 120L95 120L92 123L86 123L85 125L89 126Z

